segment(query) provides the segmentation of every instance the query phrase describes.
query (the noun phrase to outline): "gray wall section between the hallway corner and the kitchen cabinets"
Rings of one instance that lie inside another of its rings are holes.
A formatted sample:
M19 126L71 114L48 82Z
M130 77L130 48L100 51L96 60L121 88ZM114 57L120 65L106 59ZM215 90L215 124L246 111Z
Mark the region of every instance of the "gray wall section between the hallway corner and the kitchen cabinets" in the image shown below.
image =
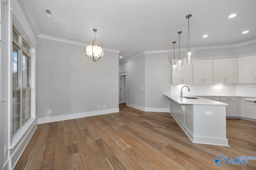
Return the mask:
M170 92L170 53L145 55L145 107L148 111L169 111L169 100L163 95Z

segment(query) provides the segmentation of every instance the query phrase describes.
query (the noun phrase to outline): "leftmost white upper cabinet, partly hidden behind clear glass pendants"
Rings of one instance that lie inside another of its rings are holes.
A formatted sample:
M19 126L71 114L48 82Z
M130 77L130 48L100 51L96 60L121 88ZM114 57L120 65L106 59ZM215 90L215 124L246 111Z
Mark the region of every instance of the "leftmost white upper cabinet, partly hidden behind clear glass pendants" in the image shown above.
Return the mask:
M193 83L193 66L184 65L182 70L172 72L172 84L192 84Z

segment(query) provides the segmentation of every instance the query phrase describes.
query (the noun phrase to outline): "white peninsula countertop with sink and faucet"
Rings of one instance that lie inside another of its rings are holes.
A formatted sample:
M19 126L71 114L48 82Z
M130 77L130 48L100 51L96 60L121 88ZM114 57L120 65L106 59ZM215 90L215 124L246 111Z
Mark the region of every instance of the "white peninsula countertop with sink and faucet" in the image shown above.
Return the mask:
M199 97L195 97L195 96L184 95L182 100L180 99L180 95L164 94L164 96L173 100L174 102L177 102L178 104L228 105L226 103L217 102L217 101L214 101L214 100L208 100L208 99L204 99L204 98L199 98ZM187 99L187 98L184 98L184 97L195 97L195 98L198 98L198 99Z

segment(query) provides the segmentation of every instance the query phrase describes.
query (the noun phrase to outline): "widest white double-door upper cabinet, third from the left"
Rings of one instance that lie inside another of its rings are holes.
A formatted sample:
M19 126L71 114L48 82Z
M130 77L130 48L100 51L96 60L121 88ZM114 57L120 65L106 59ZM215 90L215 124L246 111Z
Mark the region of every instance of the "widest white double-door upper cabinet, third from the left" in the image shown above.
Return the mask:
M237 73L237 58L213 60L213 84L237 84Z

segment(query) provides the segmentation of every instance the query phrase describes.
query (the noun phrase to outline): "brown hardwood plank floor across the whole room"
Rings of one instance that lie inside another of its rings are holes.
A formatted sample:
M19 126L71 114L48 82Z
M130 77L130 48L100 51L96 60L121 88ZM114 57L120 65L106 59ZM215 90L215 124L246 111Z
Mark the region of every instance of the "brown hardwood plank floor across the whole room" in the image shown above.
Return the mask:
M15 170L218 169L217 155L256 156L256 122L227 119L230 147L194 144L169 113L119 113L39 124ZM220 169L256 169L224 164Z

